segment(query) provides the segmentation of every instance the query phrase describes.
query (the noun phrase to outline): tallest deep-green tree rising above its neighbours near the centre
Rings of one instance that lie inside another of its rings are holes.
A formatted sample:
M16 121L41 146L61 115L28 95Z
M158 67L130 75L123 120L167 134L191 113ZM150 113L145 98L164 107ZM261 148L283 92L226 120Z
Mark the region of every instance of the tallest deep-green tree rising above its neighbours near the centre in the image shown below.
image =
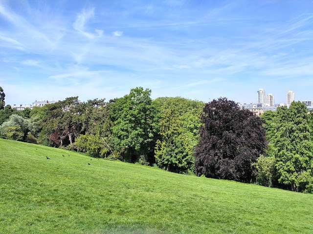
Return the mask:
M113 100L109 113L112 122L112 146L120 159L137 162L139 157L155 162L157 112L151 90L137 87L129 95Z

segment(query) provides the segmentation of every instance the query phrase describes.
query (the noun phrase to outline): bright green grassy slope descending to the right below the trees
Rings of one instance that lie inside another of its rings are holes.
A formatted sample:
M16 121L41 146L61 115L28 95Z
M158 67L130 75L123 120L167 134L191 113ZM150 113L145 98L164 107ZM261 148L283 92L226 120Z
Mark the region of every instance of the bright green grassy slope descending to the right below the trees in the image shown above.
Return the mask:
M304 234L312 217L311 194L0 139L0 233Z

